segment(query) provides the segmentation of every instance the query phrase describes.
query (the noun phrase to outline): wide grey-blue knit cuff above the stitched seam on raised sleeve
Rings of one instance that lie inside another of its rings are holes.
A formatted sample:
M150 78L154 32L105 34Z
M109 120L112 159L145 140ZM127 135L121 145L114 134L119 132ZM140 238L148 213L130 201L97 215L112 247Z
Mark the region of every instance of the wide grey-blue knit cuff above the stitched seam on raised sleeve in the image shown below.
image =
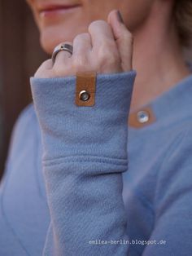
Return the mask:
M91 107L75 104L76 77L31 77L43 160L82 155L126 159L135 76L135 71L98 74Z

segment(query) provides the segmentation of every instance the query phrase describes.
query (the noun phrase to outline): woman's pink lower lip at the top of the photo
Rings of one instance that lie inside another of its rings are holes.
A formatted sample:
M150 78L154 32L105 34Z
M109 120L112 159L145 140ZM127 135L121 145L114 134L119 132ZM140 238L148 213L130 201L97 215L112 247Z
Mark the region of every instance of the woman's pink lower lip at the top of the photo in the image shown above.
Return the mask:
M70 13L72 11L76 11L80 6L74 6L74 7L68 7L68 8L58 8L53 10L47 10L47 11L40 11L40 16L42 18L54 18L58 15L63 15L66 13Z

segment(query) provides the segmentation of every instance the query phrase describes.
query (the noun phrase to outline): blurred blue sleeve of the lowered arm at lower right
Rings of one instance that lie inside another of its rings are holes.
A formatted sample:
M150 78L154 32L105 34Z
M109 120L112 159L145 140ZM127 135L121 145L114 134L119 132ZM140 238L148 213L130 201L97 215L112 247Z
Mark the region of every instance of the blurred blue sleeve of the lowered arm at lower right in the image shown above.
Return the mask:
M155 223L143 256L188 256L192 250L192 127L175 139L155 192Z

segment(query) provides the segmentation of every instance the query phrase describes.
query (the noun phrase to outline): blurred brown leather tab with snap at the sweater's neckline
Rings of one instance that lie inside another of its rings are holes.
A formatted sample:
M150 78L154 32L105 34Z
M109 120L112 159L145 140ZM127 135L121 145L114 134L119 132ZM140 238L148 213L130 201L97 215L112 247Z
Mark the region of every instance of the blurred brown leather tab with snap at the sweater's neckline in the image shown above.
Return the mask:
M144 122L139 121L137 116L139 112L146 113L148 115L148 120ZM134 111L133 113L129 113L129 126L132 126L133 128L143 128L145 126L151 125L155 121L156 121L155 113L153 112L150 106L147 106L146 108L137 109L137 111Z

